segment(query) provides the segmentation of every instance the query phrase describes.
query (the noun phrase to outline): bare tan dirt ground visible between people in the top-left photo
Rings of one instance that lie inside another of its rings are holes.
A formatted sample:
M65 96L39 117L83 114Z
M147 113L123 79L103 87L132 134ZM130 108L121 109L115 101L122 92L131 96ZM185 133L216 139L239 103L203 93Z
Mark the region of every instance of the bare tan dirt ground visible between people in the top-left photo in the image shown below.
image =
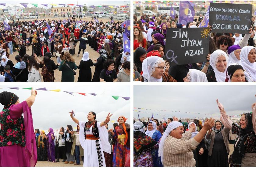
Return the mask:
M44 19L44 18L39 18L40 20L41 19ZM45 18L45 20L48 20L48 19L59 19L59 18ZM67 19L67 18L62 18L62 17L60 17L60 19ZM29 20L29 19L27 19L27 20ZM79 18L78 18L78 20L79 20ZM83 18L82 20L86 20L85 18ZM87 17L87 20L88 21L91 21L91 17ZM108 19L108 18L106 18L106 17L103 17L103 18L99 18L98 19L99 20L99 22L102 20L104 23L105 22L110 22L110 19ZM23 19L21 20L21 21L23 21ZM115 22L117 22L118 20L114 20ZM78 54L78 51L79 51L79 43L80 42L77 42L77 44L76 44L76 48L75 48L75 54L73 55L73 58L75 59L75 63L76 63L76 65L77 66L79 66L79 63L80 63L80 61L81 61L81 59L83 58L83 54L82 54L82 50L81 50L81 52L80 52L80 55L79 55L79 57L77 57L77 54ZM65 45L65 47L66 47L66 45ZM99 57L99 53L97 53L96 51L94 51L92 48L90 48L90 46L86 46L87 48L85 49L85 51L87 51L88 53L89 53L89 58L93 61L93 63L95 63L95 59L97 59L98 57ZM8 49L9 50L9 49ZM8 51L8 52L10 52L10 51ZM31 55L32 54L32 46L30 46L29 47L29 51L27 51L26 52L28 55ZM53 54L55 54L55 53L53 53ZM10 57L9 57L9 59L10 60L12 60L12 62L13 62L13 64L15 65L16 64L16 61L15 61L15 59L14 59L14 57L16 56L16 55L19 55L19 53L18 53L18 51L15 51L15 52L13 52L13 54L11 55L10 54ZM38 56L38 58L40 59L40 60L43 60L43 57L40 57L40 56ZM54 62L55 62L55 64L57 64L57 59L56 59L56 57L52 57L51 58ZM41 71L41 69L40 69L40 71ZM76 75L75 75L75 81L74 82L77 82L77 79L78 79L78 76L79 76L79 69L77 69L77 70L75 70L76 71ZM94 74L94 71L95 71L95 66L92 66L91 67L91 73L92 73L92 77L93 77L93 74ZM55 77L55 82L61 82L61 71L59 71L58 69L56 69L56 70L54 70L54 77ZM43 82L43 78L42 78L42 82Z

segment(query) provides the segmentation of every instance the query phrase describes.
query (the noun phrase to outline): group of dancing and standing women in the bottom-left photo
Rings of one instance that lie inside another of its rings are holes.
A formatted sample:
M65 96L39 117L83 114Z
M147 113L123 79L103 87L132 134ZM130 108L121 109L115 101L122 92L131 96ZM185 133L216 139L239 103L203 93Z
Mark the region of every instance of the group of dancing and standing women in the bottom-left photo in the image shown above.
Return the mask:
M108 123L112 114L104 121L96 120L96 113L87 114L87 122L78 121L74 112L70 117L77 124L76 130L69 124L54 131L48 128L33 129L31 106L37 96L31 96L20 103L14 93L0 93L0 166L35 166L37 161L59 162L63 164L89 167L130 166L130 124L120 116L111 129ZM24 113L24 117L22 114ZM76 163L75 163L76 161Z

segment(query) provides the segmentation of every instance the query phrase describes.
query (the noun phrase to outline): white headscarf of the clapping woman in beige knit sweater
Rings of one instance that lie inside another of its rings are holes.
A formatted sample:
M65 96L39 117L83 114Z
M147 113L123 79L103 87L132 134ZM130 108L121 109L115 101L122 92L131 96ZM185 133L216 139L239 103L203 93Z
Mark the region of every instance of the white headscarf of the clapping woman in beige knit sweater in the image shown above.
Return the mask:
M169 136L169 133L177 128L177 127L180 127L180 126L183 126L182 123L178 122L178 121L172 121L168 124L167 128L165 129L165 132L162 136L162 139L160 141L160 144L159 144L159 148L158 148L158 156L161 156L161 161L163 163L164 161L164 144L165 144L165 139Z

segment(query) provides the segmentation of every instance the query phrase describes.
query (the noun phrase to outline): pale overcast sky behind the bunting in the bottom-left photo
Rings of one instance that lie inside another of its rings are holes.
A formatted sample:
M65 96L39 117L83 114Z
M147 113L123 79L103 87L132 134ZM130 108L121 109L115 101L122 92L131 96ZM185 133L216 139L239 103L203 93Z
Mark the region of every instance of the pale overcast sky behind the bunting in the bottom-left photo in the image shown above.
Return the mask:
M31 90L26 90L22 88L27 88L31 86L19 86L20 90L13 90L7 87L18 87L16 86L1 86L0 93L2 91L10 91L15 93L20 102L26 100L30 96ZM36 96L35 103L31 107L34 128L48 130L52 127L54 130L71 124L73 129L76 129L76 123L69 116L69 112L72 109L75 112L75 117L80 121L88 121L87 113L94 111L96 113L96 120L104 121L108 113L113 114L110 117L109 127L112 128L113 123L117 122L119 116L128 117L128 122L130 124L130 100L124 100L119 97L115 100L111 96L122 96L130 97L130 86L56 86L54 83L52 85L46 86L33 86L34 89L46 87L48 90L60 89L60 92L54 91L43 91L37 90L38 94ZM1 89L2 88L2 89ZM63 91L86 93L86 96L74 93L65 93ZM90 95L89 93L95 93L97 96ZM0 104L2 110L3 106Z

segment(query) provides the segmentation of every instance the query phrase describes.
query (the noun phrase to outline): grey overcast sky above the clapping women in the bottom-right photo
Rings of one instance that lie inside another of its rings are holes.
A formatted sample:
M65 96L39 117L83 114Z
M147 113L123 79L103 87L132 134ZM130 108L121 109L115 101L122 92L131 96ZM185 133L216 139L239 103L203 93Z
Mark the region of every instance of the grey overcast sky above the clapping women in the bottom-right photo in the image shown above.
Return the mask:
M140 118L151 117L152 113L154 118L159 119L172 116L210 117L210 114L218 114L219 117L216 99L223 104L228 115L236 115L250 112L251 105L256 102L255 86L134 86L133 93L134 107L144 108L133 109L135 118L138 115L134 110L140 111Z

